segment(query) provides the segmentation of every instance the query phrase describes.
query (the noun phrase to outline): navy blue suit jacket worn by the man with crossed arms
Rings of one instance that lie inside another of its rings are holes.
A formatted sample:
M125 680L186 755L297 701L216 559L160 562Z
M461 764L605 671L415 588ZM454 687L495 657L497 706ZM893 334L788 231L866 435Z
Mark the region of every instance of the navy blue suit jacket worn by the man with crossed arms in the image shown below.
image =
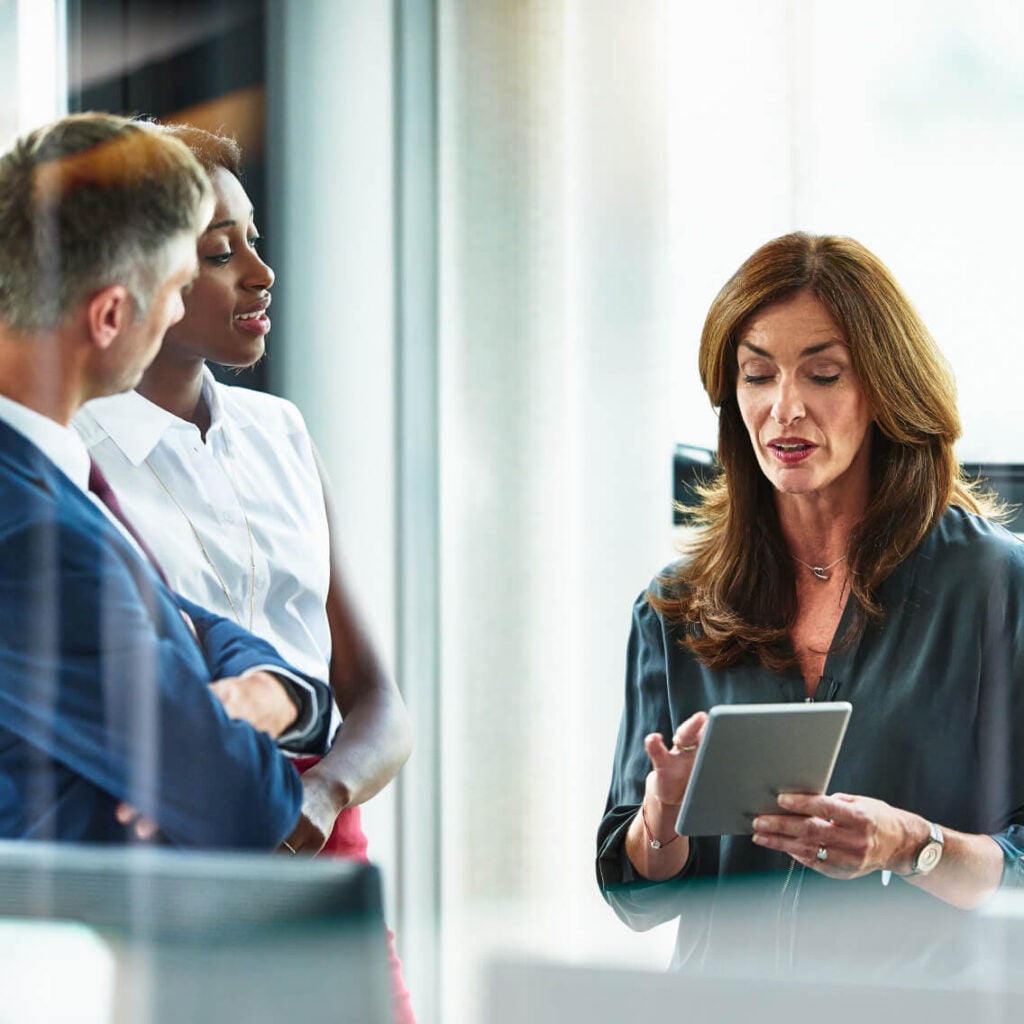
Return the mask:
M126 842L114 811L128 801L176 845L276 846L298 818L298 773L208 688L256 665L290 668L169 591L0 422L0 838Z

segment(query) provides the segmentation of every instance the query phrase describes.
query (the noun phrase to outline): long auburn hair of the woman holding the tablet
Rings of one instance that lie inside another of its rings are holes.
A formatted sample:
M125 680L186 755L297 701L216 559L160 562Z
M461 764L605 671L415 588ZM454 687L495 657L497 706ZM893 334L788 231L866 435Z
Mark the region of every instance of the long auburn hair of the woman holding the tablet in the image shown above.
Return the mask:
M725 284L705 321L700 380L719 410L721 472L688 510L696 526L689 557L648 595L710 668L751 658L770 670L796 664L793 560L740 417L736 343L754 313L805 289L846 335L873 415L868 504L847 556L855 613L840 644L881 622L879 586L949 505L1000 515L990 495L962 478L952 373L889 269L853 239L798 231L767 243Z

